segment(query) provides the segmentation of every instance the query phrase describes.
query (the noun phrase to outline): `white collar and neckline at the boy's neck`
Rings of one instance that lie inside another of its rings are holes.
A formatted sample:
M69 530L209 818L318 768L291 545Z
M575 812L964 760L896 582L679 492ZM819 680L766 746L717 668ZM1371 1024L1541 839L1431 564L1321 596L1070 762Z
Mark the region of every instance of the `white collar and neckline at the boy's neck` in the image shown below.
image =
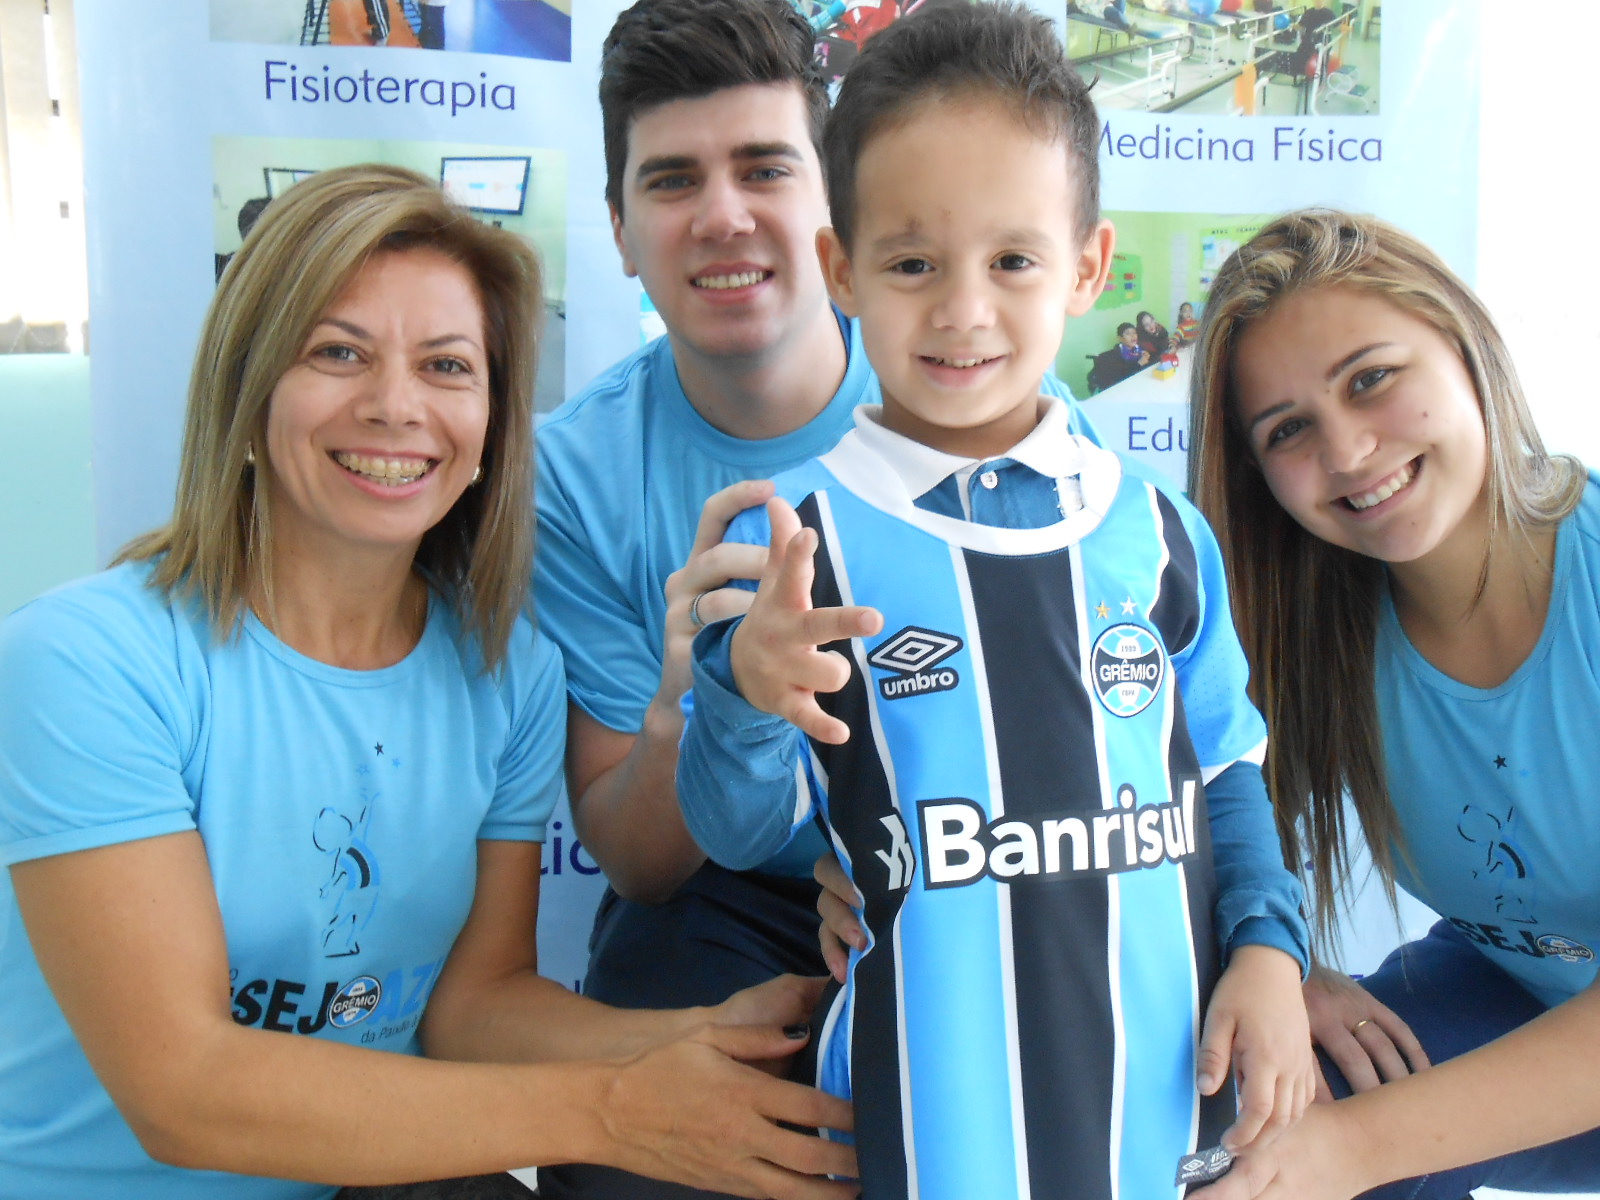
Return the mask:
M971 459L946 454L885 429L875 419L878 411L877 405L858 406L856 427L819 459L821 464L872 507L955 546L1011 555L1059 550L1082 541L1101 523L1122 485L1122 459L1072 434L1066 405L1051 400L1034 432L1010 454L997 458L1011 458L1053 478L1061 477L1062 464L1070 464L1072 470L1066 474L1078 475L1083 488L1082 509L1037 530L1005 530L928 512L917 507L917 496L936 486L952 470L970 467ZM1018 453L1022 446L1027 446L1026 459ZM939 474L930 474L936 469Z

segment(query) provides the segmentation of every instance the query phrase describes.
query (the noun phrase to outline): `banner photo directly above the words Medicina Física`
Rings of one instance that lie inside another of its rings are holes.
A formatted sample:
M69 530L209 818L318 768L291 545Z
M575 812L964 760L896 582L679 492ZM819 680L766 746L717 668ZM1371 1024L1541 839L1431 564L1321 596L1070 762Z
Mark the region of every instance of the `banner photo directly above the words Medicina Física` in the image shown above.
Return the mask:
M1070 3L1067 53L1104 109L1186 115L1374 115L1382 5L1310 0Z

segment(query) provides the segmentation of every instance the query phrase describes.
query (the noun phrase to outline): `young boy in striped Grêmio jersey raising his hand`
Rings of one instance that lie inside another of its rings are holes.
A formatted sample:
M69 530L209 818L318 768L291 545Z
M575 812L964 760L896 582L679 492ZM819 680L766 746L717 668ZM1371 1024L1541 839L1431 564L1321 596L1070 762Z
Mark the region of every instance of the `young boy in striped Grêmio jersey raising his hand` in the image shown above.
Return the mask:
M870 1200L1176 1197L1310 1098L1216 544L1038 394L1110 262L1098 133L1019 5L869 43L818 248L883 403L734 522L768 566L694 643L691 832L744 866L819 811L862 898L818 1078Z

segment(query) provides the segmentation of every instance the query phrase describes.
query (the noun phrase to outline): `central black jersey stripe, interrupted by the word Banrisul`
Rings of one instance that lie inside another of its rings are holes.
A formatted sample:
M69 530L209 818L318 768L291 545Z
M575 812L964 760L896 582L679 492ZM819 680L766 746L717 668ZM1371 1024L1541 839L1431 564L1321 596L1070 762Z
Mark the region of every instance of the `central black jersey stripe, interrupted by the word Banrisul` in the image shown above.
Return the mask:
M965 562L1006 816L1098 808L1094 715L1075 670L1082 646L1070 555L968 550ZM1110 1179L1091 1178L1110 1144L1107 907L1104 878L1040 878L1011 909L1027 1166L1040 1200L1110 1200Z

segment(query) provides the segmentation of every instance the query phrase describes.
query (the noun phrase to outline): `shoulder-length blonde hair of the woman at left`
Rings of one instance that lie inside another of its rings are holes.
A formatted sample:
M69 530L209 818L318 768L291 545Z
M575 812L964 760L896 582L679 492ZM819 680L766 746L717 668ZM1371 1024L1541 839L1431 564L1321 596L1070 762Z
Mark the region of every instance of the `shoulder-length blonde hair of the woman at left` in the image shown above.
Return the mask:
M429 530L416 565L456 606L494 667L533 562L533 381L544 314L539 259L422 174L365 165L318 171L274 200L222 272L195 354L173 517L120 560L152 560L150 582L189 594L219 632L259 589L270 606L267 408L310 330L366 261L427 248L466 267L483 304L490 426L483 480Z

